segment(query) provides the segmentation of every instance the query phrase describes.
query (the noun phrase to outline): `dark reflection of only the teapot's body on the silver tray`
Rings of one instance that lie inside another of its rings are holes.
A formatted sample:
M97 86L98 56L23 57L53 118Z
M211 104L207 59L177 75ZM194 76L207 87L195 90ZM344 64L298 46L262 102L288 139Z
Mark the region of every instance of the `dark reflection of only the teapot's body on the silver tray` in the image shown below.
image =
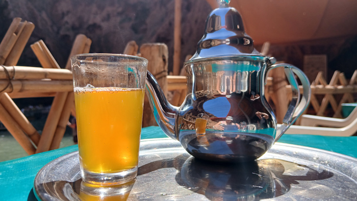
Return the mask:
M193 191L205 195L210 200L220 197L227 200L272 198L276 193L271 172L269 169L260 169L257 161L244 165L208 165L207 162L190 158L182 166L179 178L182 182L179 184L188 188L193 187ZM289 190L283 189L283 192L278 194L284 194Z

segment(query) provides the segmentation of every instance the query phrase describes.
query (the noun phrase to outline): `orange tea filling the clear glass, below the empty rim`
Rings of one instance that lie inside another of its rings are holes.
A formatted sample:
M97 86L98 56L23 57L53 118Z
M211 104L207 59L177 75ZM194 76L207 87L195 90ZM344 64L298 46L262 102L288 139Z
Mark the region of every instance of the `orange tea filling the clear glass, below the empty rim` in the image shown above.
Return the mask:
M83 169L112 173L138 165L144 90L74 88Z

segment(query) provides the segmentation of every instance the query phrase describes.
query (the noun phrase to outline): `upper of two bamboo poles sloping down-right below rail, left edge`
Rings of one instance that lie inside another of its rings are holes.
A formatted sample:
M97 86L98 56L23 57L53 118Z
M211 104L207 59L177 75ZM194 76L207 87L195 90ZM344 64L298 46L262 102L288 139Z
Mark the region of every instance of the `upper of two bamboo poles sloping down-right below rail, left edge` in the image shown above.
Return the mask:
M11 117L16 119L20 128L30 137L34 144L37 145L40 140L40 134L25 117L25 115L22 114L7 93L0 94L0 103L7 109Z

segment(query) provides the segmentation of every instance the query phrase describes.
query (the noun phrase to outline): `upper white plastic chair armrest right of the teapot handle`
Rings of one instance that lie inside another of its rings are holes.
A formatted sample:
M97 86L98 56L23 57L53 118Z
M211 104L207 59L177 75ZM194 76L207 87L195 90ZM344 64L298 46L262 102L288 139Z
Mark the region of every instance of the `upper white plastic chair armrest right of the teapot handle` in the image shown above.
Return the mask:
M305 125L309 127L323 126L342 128L347 127L353 122L354 119L357 119L357 107L355 107L351 114L344 119L305 114L301 117L300 125Z

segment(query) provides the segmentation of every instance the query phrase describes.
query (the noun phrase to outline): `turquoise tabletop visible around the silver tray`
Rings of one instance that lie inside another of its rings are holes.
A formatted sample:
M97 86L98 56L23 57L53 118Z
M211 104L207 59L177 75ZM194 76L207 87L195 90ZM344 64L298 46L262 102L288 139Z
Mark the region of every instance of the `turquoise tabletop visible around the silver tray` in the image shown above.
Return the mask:
M141 138L165 138L159 127L142 129ZM278 142L321 148L357 158L357 136L326 137L283 135ZM0 200L35 200L32 193L37 172L48 162L78 150L77 145L0 163Z

